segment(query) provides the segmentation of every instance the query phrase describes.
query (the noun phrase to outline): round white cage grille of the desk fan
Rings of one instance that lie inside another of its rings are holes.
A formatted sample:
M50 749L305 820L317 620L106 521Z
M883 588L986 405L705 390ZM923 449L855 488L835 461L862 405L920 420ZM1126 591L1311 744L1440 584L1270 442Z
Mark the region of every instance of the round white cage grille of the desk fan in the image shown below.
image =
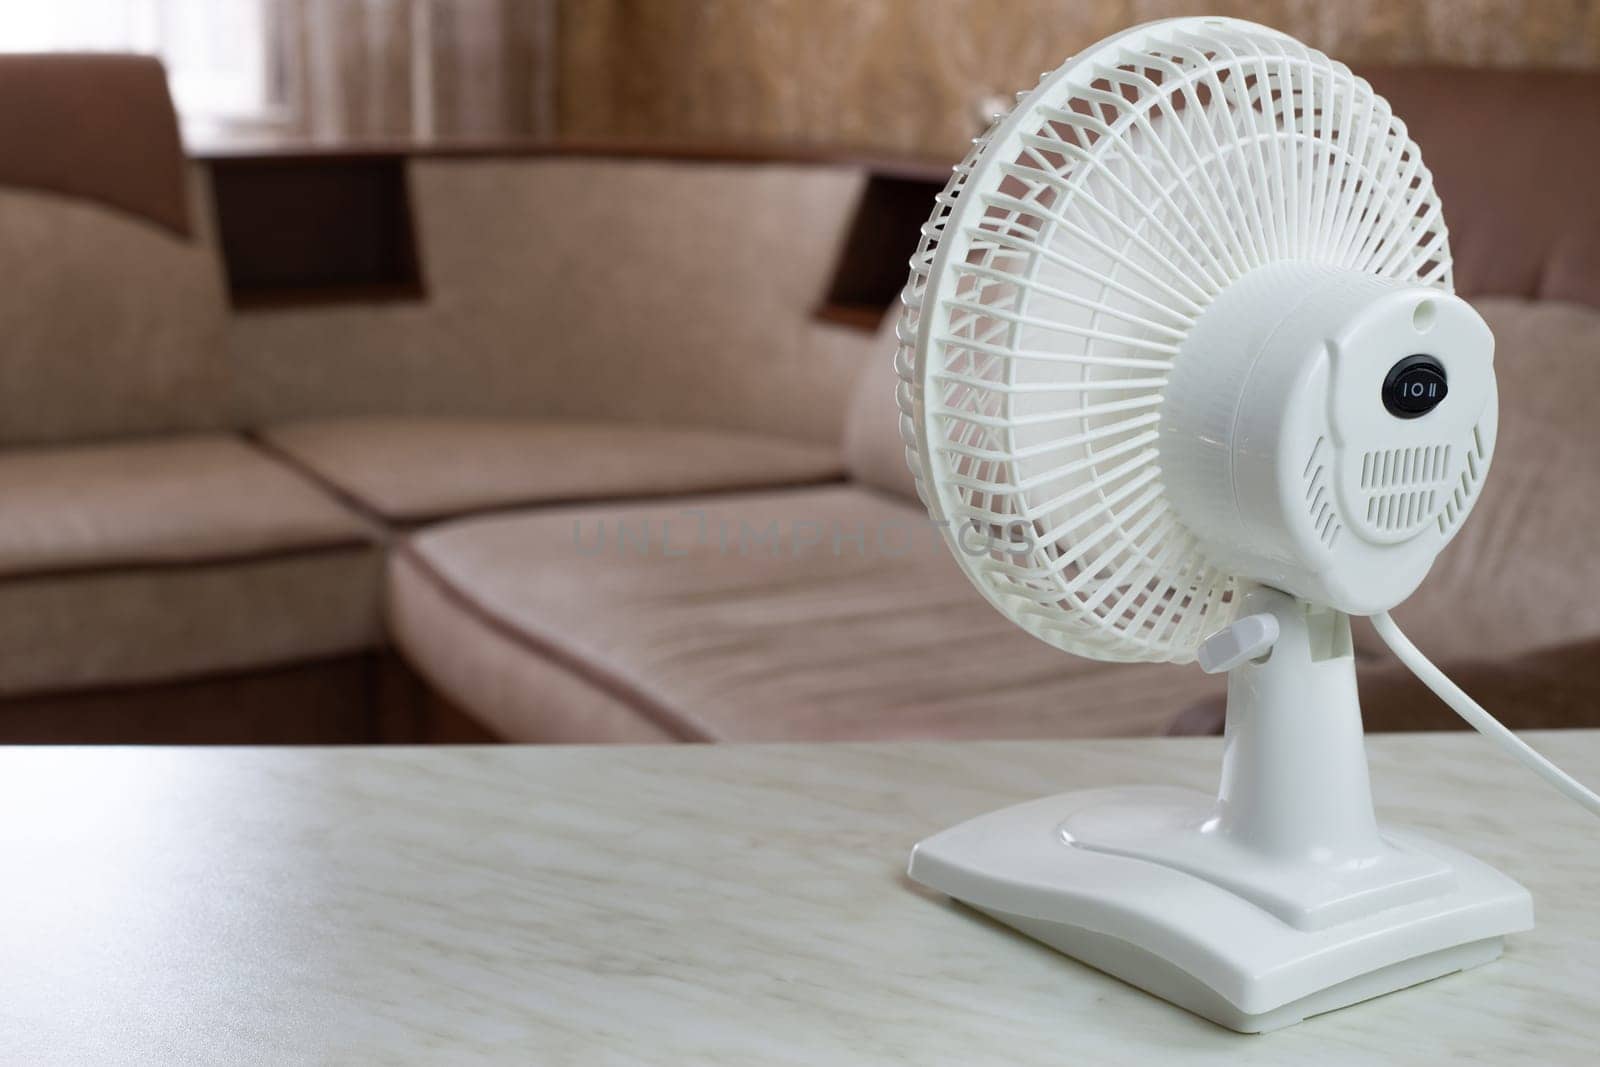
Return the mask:
M1448 291L1438 198L1382 98L1250 22L1150 24L1018 99L910 261L907 458L962 566L1024 629L1099 659L1187 661L1238 582L1162 485L1184 338L1269 262Z

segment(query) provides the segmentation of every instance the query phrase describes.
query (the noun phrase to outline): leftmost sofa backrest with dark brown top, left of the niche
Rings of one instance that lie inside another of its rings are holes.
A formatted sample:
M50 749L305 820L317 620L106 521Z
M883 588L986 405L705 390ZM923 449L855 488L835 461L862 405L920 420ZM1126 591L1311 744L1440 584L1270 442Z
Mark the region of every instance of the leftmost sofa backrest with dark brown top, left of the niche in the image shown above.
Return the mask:
M0 445L219 426L221 269L160 66L48 59L0 59Z

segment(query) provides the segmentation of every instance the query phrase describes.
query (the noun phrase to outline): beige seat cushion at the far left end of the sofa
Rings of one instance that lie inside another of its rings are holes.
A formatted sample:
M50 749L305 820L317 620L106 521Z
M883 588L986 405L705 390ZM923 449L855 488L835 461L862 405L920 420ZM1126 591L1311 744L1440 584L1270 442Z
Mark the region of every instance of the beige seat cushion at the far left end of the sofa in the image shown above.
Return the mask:
M237 438L0 453L0 501L3 696L270 667L381 638L365 520Z

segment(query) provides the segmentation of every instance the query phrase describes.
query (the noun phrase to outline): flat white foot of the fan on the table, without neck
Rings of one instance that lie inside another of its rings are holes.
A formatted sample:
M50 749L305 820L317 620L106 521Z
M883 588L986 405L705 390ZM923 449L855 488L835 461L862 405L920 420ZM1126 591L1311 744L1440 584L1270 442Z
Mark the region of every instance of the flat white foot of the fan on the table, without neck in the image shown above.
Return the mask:
M1533 926L1520 885L1466 853L1398 830L1402 857L1443 865L1435 893L1315 929L1266 910L1262 894L1158 859L1070 843L1072 816L1214 800L1138 787L1062 793L995 811L912 851L910 877L1093 968L1230 1030L1258 1033L1488 963ZM1138 821L1134 821L1138 822ZM1410 896L1410 894L1408 894Z

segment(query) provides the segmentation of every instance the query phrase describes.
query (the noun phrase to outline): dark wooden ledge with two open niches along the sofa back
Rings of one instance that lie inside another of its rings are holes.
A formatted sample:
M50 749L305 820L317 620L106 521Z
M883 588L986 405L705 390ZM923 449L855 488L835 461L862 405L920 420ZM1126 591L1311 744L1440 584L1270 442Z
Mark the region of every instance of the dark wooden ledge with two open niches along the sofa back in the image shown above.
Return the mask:
M947 163L808 146L654 142L235 141L190 146L213 174L232 302L240 309L426 298L406 163L413 158L640 158L864 170L843 253L816 309L877 330L906 283Z

